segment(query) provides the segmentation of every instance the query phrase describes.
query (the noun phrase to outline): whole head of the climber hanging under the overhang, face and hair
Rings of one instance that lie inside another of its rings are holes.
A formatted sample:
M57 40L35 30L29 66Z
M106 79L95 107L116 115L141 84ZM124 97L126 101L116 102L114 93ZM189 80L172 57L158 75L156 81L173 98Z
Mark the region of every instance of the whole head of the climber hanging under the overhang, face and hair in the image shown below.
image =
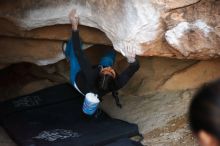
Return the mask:
M98 87L100 90L112 90L112 85L114 83L114 79L116 77L116 73L112 67L104 67L100 70L99 79L98 79Z

